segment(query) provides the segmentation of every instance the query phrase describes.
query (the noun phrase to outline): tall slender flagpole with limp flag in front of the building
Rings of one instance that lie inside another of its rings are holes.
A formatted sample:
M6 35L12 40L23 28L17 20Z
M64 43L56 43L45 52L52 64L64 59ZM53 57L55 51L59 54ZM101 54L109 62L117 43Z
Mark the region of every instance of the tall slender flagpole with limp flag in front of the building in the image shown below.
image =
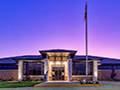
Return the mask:
M88 82L88 32L87 32L87 2L85 5L86 12L86 81Z

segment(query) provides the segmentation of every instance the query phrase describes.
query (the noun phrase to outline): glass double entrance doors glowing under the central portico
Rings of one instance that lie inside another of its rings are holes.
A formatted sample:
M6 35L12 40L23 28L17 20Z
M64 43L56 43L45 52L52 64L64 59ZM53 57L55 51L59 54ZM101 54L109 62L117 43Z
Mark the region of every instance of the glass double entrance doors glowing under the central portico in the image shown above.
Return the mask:
M64 67L52 67L52 80L64 80Z

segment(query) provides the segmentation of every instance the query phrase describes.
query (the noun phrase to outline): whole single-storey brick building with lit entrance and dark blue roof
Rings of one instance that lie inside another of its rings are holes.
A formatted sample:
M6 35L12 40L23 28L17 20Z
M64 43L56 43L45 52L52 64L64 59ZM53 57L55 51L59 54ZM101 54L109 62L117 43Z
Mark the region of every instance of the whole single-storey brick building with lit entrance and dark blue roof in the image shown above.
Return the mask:
M24 55L0 59L0 78L25 79L29 70L32 80L77 81L86 79L86 56L75 50L42 50L41 55ZM120 78L120 60L88 56L88 80L112 80L112 69Z

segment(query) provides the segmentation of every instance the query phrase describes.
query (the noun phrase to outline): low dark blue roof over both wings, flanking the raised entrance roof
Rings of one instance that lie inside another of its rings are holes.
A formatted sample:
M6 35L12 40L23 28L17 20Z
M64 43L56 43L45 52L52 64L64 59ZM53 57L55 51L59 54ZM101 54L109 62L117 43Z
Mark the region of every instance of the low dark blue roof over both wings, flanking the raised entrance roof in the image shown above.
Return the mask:
M24 56L16 56L16 57L10 57L10 58L1 58L0 64L17 64L18 60L43 60L44 58L42 55L24 55ZM73 58L74 60L85 60L85 55L75 55ZM88 60L102 60L99 62L99 64L119 64L120 65L120 59L114 59L114 58L105 58L105 57L98 57L98 56L88 56Z

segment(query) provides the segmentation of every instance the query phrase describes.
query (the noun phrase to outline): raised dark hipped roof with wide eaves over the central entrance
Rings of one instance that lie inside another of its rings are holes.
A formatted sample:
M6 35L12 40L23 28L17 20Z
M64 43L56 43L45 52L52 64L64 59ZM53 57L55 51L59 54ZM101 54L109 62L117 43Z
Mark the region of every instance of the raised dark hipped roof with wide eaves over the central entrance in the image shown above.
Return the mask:
M48 52L52 52L52 53L68 52L68 53L70 53L71 57L74 57L74 55L76 54L77 51L75 51L75 50L65 50L65 49L51 49L51 50L41 50L39 52L41 53L41 55L43 57L46 57L46 55L47 55Z

